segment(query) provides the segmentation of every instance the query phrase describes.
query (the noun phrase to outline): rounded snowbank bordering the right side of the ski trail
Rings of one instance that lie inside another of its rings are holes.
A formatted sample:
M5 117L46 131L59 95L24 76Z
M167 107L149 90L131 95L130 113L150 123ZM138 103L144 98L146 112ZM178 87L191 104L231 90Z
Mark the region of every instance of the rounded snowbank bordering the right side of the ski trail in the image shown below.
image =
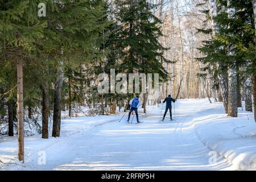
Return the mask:
M253 113L227 117L222 103L208 104L193 118L200 140L241 170L256 170L256 123ZM243 107L244 108L244 107Z

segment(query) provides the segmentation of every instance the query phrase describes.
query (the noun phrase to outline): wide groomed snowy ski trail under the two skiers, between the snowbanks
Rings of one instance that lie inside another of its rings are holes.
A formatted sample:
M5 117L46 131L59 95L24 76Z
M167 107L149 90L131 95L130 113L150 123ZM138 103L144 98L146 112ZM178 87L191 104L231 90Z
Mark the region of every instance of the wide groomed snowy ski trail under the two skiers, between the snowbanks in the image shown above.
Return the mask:
M125 119L73 134L45 148L46 165L38 156L27 160L23 170L220 170L234 169L226 159L209 164L210 149L195 133L192 119L205 101L176 105L175 121L159 122L158 107L128 124ZM167 117L168 118L168 115ZM135 119L135 118L134 118Z

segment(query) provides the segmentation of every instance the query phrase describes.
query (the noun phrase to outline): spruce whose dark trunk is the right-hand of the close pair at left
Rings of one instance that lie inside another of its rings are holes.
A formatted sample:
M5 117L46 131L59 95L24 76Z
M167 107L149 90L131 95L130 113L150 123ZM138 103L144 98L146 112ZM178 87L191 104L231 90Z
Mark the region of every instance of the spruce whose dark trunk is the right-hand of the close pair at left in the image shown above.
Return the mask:
M53 12L49 12L48 31L49 34L56 34L61 41L57 44L56 50L56 81L53 109L53 129L52 136L60 136L61 125L61 90L65 69L79 68L84 61L89 61L96 57L100 40L99 35L102 29L108 24L102 1L61 1L56 3L58 7ZM52 36L51 36L52 38ZM54 38L52 38L55 40ZM55 45L55 44L53 44ZM56 57L53 54L52 57Z

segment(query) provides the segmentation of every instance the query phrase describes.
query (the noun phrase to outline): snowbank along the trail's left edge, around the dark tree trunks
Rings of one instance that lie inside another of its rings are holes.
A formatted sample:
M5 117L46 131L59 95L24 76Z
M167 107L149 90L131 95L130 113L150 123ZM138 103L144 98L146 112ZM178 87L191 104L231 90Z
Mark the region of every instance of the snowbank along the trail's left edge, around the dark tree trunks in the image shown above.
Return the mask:
M40 151L46 150L56 143L65 143L71 139L73 135L85 133L93 127L103 125L104 123L119 120L120 115L104 115L94 117L79 117L61 119L61 136L54 138L49 131L49 139L41 138L41 135L33 135L24 138L25 159L26 163L34 160L35 155ZM51 125L51 123L49 123ZM23 164L17 159L18 155L18 138L2 137L0 138L0 170L22 170Z

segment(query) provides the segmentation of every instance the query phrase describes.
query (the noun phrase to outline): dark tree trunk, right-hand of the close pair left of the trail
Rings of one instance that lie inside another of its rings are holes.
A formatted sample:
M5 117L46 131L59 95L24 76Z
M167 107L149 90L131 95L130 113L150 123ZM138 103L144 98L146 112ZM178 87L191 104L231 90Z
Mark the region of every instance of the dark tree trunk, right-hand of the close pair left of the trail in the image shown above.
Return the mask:
M55 82L52 137L60 137L61 89L63 86L63 80L64 80L64 74L63 74L63 69L61 68L60 76L57 78Z

